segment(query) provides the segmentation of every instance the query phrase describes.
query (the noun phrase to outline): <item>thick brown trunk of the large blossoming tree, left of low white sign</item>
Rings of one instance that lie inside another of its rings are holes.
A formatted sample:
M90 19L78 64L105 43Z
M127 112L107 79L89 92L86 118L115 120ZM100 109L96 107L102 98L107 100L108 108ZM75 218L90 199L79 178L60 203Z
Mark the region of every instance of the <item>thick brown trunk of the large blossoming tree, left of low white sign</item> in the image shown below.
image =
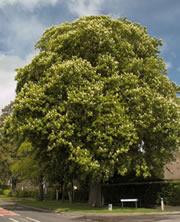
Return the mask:
M89 190L89 204L92 207L102 207L102 200L101 184L99 182L92 182Z

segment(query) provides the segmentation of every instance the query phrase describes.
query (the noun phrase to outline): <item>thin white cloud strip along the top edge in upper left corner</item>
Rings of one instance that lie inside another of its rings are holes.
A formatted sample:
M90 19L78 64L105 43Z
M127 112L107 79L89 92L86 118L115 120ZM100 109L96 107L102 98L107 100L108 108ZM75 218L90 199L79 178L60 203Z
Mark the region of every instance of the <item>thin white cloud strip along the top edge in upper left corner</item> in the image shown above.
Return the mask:
M9 5L21 5L28 10L42 5L55 5L59 0L0 0L0 8Z

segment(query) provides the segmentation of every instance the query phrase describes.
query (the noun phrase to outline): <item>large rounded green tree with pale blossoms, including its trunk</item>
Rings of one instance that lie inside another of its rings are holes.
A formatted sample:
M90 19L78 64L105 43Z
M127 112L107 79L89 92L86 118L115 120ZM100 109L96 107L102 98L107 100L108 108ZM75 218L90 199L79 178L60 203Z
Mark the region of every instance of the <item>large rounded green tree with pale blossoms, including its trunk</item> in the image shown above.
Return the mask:
M114 173L149 176L177 150L175 87L160 46L126 19L83 17L48 29L17 70L19 140L49 168L54 158L68 177L90 178L92 205Z

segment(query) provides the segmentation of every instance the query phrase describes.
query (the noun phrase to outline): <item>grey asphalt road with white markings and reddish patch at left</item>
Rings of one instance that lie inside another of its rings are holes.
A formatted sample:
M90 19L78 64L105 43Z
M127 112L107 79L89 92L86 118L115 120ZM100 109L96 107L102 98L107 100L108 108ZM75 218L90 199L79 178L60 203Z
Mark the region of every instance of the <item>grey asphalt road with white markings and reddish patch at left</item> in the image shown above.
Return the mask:
M0 202L0 222L180 222L180 214L171 215L89 215L55 214L40 210L17 206L12 203Z

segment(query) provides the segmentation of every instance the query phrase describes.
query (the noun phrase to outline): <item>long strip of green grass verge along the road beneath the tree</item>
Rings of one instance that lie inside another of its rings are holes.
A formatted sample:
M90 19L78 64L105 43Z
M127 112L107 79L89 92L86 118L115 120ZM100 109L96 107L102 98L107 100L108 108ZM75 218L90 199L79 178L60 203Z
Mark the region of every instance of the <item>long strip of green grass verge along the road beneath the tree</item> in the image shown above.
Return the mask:
M161 213L160 206L158 208L121 208L120 206L113 206L112 211L108 211L107 206L103 208L94 208L90 207L86 203L72 203L61 202L61 201L37 201L31 198L15 198L15 197L5 197L0 195L0 200L2 201L11 201L16 202L19 205L26 205L35 208L42 208L51 210L54 212L78 212L81 214L92 213L92 214L104 214L104 213L113 213L113 214L156 214ZM180 211L180 206L165 206L165 212L175 212Z

